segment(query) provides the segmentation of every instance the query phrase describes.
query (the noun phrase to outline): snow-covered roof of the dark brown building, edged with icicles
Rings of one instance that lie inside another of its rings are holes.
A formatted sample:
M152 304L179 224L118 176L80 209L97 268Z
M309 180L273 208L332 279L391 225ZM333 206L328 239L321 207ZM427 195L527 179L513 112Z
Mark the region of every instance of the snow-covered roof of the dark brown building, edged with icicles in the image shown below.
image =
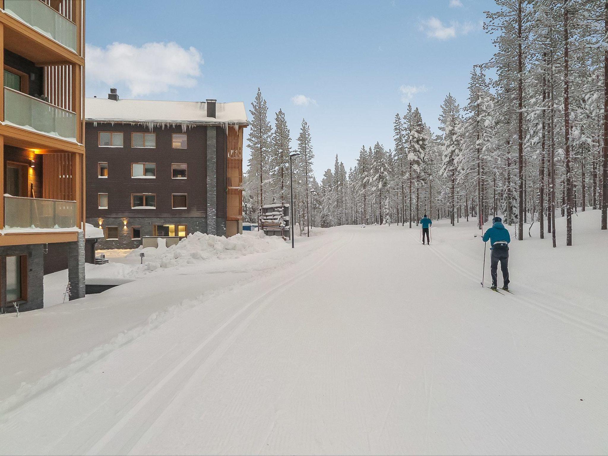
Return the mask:
M85 119L89 122L247 124L243 102L216 103L215 114L216 117L207 117L206 102L86 98L85 104Z

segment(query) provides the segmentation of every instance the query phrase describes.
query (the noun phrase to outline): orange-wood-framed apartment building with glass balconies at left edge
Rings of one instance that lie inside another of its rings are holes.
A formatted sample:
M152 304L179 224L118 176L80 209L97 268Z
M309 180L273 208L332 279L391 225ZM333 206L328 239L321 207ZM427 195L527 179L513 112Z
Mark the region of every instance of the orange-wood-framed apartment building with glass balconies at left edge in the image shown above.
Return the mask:
M85 294L84 0L0 0L0 312L43 307L67 255ZM50 246L50 248L49 248Z

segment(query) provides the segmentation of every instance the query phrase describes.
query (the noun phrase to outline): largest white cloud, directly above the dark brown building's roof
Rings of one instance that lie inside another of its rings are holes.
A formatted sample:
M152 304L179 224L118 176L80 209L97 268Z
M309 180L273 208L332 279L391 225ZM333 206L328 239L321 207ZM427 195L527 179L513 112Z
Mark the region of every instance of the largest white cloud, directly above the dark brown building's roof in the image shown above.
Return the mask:
M204 64L194 47L177 43L145 43L141 47L112 43L105 48L86 45L86 77L107 85L124 84L131 96L192 88Z

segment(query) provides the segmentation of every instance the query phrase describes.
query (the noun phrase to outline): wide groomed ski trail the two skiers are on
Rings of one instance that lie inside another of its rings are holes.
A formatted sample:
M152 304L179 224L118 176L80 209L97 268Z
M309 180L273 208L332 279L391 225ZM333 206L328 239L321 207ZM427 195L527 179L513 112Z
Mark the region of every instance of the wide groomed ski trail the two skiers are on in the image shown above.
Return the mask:
M7 413L0 452L606 451L605 316L482 289L417 230L328 235Z

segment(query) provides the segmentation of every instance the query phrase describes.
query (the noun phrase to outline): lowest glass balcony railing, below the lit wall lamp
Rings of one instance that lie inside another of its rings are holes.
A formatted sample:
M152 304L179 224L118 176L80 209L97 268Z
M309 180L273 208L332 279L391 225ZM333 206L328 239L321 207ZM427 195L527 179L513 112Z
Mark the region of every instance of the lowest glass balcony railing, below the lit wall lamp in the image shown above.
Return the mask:
M75 228L76 202L4 196L5 229Z

